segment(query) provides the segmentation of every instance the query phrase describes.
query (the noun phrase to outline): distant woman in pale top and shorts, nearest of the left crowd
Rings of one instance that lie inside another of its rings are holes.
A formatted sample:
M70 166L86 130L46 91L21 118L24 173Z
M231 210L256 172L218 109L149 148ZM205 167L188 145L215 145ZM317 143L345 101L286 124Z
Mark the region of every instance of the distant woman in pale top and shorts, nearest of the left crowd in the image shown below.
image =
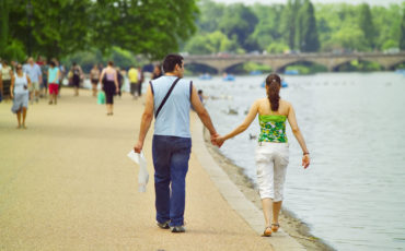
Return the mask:
M11 111L16 113L16 120L19 122L19 125L16 127L18 129L21 128L21 112L23 113L23 129L26 129L25 117L28 108L28 88L31 87L31 80L23 72L23 67L21 64L18 64L15 70L16 73L13 77L11 77L10 85L10 94L11 98L13 98Z

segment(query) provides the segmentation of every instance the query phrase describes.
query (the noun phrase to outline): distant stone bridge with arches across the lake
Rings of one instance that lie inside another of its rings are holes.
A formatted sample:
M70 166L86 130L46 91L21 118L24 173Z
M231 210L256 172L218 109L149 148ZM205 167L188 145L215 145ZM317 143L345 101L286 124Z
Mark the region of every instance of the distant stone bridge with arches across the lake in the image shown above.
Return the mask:
M391 70L405 62L405 51L397 53L355 52L355 53L291 53L291 55L223 55L223 56L186 56L185 64L202 64L216 69L219 73L245 62L256 62L271 67L275 72L282 72L294 63L310 62L321 64L328 71L336 71L340 65L352 60L377 62L383 69Z

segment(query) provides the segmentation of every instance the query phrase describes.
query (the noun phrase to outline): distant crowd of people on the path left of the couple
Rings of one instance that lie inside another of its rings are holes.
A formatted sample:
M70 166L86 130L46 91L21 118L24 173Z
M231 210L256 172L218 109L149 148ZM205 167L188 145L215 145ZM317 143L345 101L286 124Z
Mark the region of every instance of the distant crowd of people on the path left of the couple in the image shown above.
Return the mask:
M158 64L153 70L152 80L161 75L161 65ZM89 79L93 97L102 92L106 99L107 116L112 116L114 96L121 96L125 77L129 80L130 94L134 99L137 99L142 95L144 81L141 67L131 65L128 71L125 71L109 61L105 68L103 64L94 64L89 73L84 73L77 62L73 62L67 71L57 59L46 60L40 56L36 61L30 57L24 64L16 61L9 63L0 59L0 101L13 103L12 112L18 117L18 128L26 129L25 118L28 104L34 105L34 103L39 103L40 98L48 97L49 105L57 105L63 83L72 86L73 95L79 96L80 87L83 86L84 80Z

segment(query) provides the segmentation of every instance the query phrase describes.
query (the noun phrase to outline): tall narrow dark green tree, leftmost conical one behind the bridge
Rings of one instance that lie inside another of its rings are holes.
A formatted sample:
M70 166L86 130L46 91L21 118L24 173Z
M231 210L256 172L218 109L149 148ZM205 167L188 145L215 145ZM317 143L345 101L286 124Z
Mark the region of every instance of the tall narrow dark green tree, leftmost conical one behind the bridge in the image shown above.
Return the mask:
M305 0L300 10L300 50L314 52L320 49L320 40L317 38L316 20L314 9L309 0Z

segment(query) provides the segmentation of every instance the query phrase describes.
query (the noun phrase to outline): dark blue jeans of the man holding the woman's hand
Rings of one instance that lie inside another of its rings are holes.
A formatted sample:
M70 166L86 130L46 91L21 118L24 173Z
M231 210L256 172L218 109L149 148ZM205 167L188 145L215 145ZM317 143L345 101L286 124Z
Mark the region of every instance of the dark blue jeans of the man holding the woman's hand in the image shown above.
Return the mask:
M184 225L186 175L192 139L153 135L152 156L157 220L170 226Z

